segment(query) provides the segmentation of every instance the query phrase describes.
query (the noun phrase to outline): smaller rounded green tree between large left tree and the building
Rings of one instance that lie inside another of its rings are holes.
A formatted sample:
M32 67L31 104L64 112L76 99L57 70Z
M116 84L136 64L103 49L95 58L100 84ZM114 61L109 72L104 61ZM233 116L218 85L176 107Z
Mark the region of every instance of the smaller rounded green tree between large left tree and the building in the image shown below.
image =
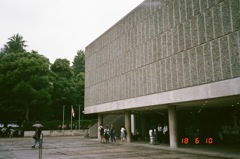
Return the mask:
M77 66L80 67L80 66ZM56 59L51 66L52 72L55 73L53 82L54 91L52 93L53 107L56 110L62 110L65 106L66 112L71 112L71 106L79 107L83 103L82 92L84 84L80 82L82 78L77 78L67 59ZM83 110L83 109L81 109ZM78 115L76 112L76 115ZM55 114L56 119L62 118L62 111ZM70 113L66 114L70 118Z

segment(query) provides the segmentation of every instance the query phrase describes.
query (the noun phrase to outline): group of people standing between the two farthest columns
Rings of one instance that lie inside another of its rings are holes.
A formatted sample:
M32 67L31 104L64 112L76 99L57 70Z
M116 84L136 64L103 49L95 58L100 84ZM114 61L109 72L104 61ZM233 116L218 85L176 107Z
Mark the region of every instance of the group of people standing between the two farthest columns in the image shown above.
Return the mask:
M100 143L108 143L110 140L111 142L116 142L116 130L114 125L112 124L110 128L108 126L103 127L102 124L100 124L98 131L100 133ZM126 140L127 131L124 126L120 129L120 138L121 143L123 143Z

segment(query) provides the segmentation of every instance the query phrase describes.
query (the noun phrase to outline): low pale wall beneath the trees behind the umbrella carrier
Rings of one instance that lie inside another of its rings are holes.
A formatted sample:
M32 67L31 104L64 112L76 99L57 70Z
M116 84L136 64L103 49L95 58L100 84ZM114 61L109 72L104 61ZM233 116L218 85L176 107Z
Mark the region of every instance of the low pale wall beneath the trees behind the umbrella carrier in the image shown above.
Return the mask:
M32 137L35 131L24 131L24 137ZM88 136L89 130L42 130L43 136Z

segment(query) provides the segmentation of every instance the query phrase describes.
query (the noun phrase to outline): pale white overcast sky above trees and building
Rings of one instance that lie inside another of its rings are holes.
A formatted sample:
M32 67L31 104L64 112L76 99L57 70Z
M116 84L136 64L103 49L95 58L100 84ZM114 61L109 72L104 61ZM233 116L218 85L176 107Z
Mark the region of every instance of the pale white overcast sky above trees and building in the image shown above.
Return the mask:
M0 0L0 48L20 34L51 63L73 61L143 0Z

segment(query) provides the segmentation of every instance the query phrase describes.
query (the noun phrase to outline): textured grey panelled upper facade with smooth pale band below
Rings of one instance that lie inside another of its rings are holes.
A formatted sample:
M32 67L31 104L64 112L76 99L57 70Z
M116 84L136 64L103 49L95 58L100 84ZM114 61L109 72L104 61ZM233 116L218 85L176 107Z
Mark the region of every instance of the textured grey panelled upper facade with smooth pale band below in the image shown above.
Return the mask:
M239 96L240 1L145 0L85 55L86 114Z

